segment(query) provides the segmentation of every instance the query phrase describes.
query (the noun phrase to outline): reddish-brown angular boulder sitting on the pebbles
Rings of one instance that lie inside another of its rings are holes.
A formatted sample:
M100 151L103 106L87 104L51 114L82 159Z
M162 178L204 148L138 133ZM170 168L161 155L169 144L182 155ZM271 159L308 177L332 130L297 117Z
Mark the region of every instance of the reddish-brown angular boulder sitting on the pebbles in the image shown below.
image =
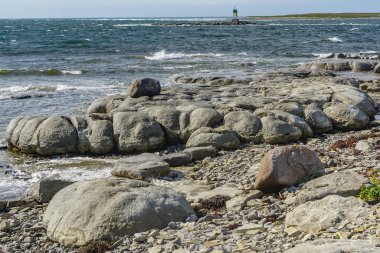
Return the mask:
M323 172L324 166L318 155L306 146L277 147L267 152L261 160L255 188L276 192Z

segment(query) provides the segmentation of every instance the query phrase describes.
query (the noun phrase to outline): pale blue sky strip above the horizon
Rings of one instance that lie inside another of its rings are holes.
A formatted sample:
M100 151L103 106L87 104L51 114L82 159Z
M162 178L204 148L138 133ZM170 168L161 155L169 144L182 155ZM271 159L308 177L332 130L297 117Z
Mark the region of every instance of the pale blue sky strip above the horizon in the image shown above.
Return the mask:
M380 12L379 0L0 0L0 18L225 17Z

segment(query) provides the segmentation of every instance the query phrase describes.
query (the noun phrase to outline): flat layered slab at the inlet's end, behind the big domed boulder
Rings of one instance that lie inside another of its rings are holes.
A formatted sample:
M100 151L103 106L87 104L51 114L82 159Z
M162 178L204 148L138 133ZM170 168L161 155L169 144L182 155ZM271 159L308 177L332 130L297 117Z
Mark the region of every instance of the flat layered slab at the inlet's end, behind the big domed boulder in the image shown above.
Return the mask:
M147 180L149 178L164 177L170 172L169 164L155 154L143 153L121 159L115 164L112 175L130 179Z

